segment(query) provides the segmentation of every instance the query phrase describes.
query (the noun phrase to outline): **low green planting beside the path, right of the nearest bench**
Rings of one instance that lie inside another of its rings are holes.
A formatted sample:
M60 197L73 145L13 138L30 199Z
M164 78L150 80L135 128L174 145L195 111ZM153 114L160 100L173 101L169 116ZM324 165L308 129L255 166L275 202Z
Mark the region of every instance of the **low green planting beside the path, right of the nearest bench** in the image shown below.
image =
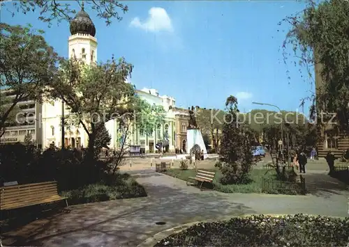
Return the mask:
M131 175L125 173L117 175L112 182L88 184L79 189L62 191L60 195L66 196L70 205L77 205L105 200L138 198L147 196L147 192Z

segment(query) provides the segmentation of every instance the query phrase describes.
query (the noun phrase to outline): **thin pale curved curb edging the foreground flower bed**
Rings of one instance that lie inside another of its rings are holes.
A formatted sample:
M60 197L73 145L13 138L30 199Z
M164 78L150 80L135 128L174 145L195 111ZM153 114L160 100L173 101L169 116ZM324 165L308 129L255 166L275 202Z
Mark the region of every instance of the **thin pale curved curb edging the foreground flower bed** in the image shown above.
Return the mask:
M216 221L227 221L230 218L246 218L249 216L258 216L258 215L264 215L264 216L272 216L272 217L281 217L281 216L295 216L295 214L244 214L242 216L228 216L223 218L215 218L215 219L209 219L204 221L194 221L191 223L186 223L182 225L178 225L174 228L169 228L167 230L163 230L161 232L158 232L154 234L153 237L149 237L145 241L143 241L141 244L139 244L137 247L154 247L158 243L158 241L161 241L162 239L165 239L166 237L178 233L181 231L186 230L187 228L190 228L193 225L199 224L199 223L210 223L210 222L216 222ZM306 216L319 216L318 214L304 214ZM329 216L329 215L321 215L326 217L332 217L332 218L346 218L346 217L340 217L340 216Z

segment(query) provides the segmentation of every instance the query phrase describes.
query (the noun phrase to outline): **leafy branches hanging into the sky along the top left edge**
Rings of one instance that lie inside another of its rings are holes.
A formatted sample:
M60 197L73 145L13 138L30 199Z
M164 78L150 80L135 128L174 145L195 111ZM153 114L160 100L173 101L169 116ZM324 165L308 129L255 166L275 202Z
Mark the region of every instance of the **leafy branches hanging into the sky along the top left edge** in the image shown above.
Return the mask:
M15 13L22 13L26 15L29 12L40 13L38 19L48 24L52 24L53 21L61 22L62 20L70 21L75 16L75 9L72 7L72 3L76 2L80 7L82 3L84 6L91 7L97 13L97 16L103 20L107 25L112 23L112 19L121 20L122 17L118 11L121 10L123 13L128 11L128 7L123 3L115 0L74 0L74 1L57 1L57 0L17 0L1 2L1 8L7 6L7 10L15 16ZM9 8L12 3L13 9Z

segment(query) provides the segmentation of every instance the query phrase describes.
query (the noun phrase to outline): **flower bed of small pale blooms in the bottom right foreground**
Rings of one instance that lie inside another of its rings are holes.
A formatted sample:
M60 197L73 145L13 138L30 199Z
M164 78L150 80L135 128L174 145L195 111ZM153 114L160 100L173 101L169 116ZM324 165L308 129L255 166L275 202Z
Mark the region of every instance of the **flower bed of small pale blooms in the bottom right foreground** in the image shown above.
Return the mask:
M248 216L200 223L155 246L348 246L349 218Z

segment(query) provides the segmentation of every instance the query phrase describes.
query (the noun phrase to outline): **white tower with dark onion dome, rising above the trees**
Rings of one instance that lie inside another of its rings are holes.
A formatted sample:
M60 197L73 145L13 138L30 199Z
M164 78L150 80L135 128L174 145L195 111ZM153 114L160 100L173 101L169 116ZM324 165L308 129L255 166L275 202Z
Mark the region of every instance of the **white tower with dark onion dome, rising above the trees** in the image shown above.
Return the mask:
M81 10L70 21L70 36L68 39L69 58L82 58L87 64L97 61L96 27L89 15L84 11L82 2Z

